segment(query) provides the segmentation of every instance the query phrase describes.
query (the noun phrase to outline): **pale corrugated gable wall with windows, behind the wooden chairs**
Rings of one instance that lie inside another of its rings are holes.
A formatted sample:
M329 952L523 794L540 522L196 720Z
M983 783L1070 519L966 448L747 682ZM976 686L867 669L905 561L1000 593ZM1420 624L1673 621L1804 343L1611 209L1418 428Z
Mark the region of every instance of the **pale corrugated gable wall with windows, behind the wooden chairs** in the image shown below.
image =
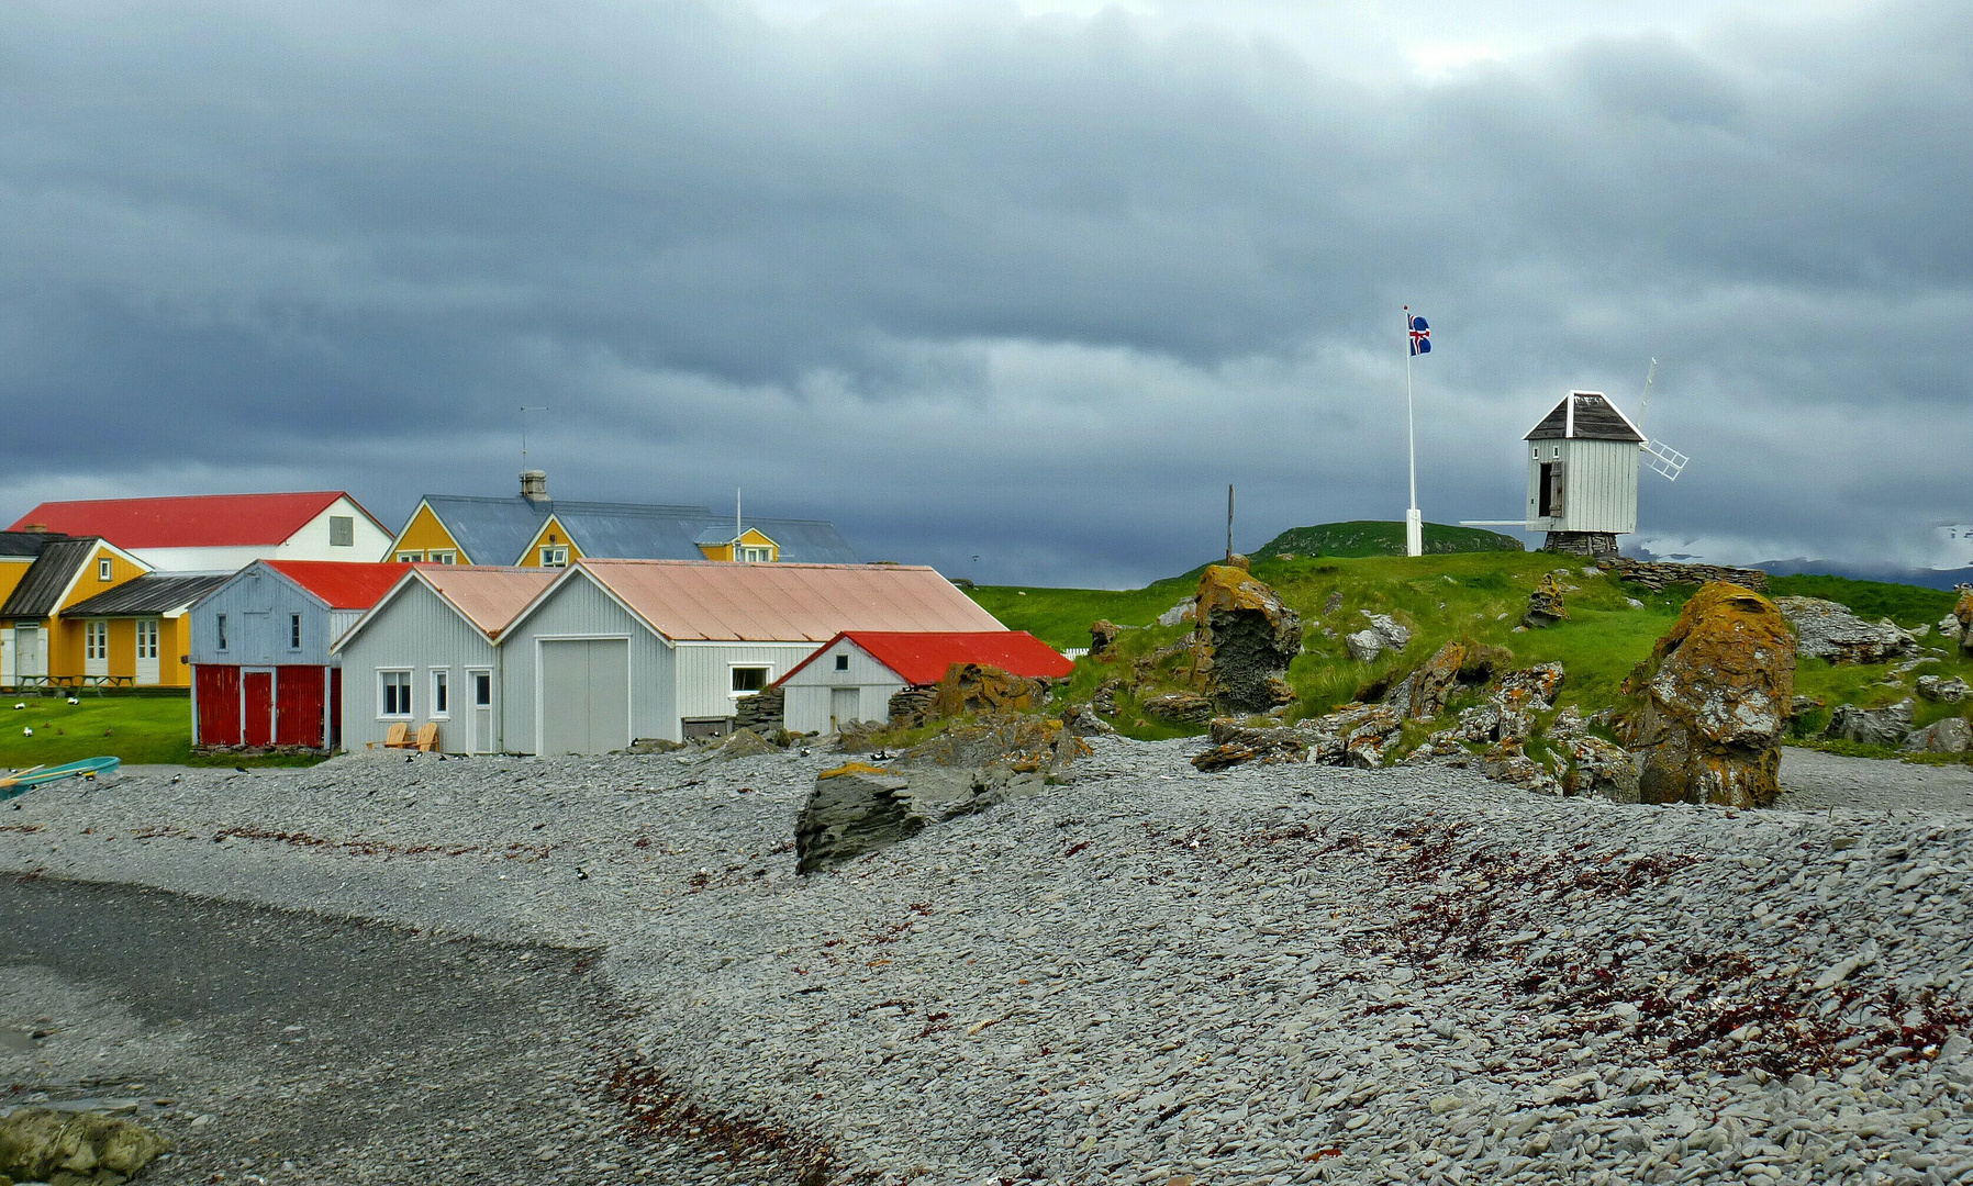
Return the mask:
M432 671L446 669L450 716L438 722L438 744L462 752L468 746L466 667L493 667L493 645L460 618L430 588L410 582L341 651L343 657L343 746L361 750L381 742L395 720L377 720L377 671L410 669L408 720L412 732L432 720ZM499 693L495 693L499 695ZM511 748L511 746L509 746Z

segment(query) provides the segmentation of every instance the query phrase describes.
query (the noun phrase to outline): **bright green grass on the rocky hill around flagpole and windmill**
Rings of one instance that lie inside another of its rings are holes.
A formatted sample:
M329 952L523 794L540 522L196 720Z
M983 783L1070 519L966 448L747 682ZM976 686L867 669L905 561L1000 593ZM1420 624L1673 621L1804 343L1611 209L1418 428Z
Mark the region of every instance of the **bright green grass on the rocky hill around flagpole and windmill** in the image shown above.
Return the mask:
M1580 560L1551 553L1492 551L1407 556L1296 556L1273 558L1263 553L1253 572L1275 586L1302 616L1304 653L1288 669L1300 704L1298 714L1314 716L1336 704L1375 695L1381 687L1411 667L1423 663L1442 643L1466 639L1503 647L1513 665L1561 661L1567 683L1561 704L1578 704L1584 712L1608 706L1620 699L1618 685L1671 628L1693 588L1673 586L1653 594L1642 586L1618 582ZM1545 572L1565 572L1565 582L1576 586L1567 594L1569 620L1549 630L1515 633L1527 608L1527 594ZM1125 657L1144 655L1180 641L1186 626L1156 626L1160 614L1190 600L1194 574L1154 582L1146 588L1058 590L986 586L973 590L975 600L1014 630L1028 630L1056 647L1087 647L1089 624L1109 618L1133 626L1119 639ZM1937 590L1859 582L1825 576L1778 578L1776 596L1811 594L1839 600L1866 618L1890 616L1902 626L1937 622L1951 608L1951 594ZM1336 604L1334 610L1330 606ZM1391 614L1409 626L1413 641L1401 653L1385 653L1373 663L1357 663L1344 645L1346 633L1363 630L1363 612ZM1077 661L1069 683L1071 697L1087 697L1101 679L1117 673L1113 665ZM1797 665L1797 691L1831 704L1890 704L1908 695L1918 675L1959 675L1973 683L1973 663L1957 653L1884 683L1886 667L1831 667L1815 659ZM1961 706L1920 701L1918 722ZM1807 720L1811 726L1827 720L1827 710ZM1133 736L1170 736L1172 730L1152 722L1134 726L1119 718Z

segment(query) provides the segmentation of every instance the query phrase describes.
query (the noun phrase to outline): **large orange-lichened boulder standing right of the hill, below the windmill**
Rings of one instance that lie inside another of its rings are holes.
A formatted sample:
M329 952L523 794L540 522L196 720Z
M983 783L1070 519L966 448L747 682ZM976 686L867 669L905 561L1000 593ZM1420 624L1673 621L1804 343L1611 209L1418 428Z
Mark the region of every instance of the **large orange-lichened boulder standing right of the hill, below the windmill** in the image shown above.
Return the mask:
M1795 639L1774 602L1738 584L1693 594L1624 685L1645 803L1762 807L1780 793L1780 740L1795 695Z

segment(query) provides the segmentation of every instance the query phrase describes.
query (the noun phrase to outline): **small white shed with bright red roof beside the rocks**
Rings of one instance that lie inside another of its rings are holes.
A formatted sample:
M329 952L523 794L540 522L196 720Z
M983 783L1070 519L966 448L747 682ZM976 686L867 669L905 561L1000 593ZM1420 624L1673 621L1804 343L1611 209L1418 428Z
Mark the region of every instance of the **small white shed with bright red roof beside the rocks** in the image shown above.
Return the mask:
M846 720L888 720L890 699L945 679L955 663L981 663L1028 679L1061 679L1075 663L1026 630L965 633L844 631L777 685L795 732L835 732Z

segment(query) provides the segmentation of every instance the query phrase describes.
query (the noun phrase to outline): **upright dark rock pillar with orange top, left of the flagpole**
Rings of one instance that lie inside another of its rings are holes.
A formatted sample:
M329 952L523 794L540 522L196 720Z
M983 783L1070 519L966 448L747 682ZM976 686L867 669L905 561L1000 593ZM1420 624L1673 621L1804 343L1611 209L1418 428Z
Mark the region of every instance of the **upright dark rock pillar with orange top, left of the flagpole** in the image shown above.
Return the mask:
M1273 588L1229 564L1200 574L1192 671L1229 712L1267 712L1294 701L1288 663L1302 653L1302 618Z

